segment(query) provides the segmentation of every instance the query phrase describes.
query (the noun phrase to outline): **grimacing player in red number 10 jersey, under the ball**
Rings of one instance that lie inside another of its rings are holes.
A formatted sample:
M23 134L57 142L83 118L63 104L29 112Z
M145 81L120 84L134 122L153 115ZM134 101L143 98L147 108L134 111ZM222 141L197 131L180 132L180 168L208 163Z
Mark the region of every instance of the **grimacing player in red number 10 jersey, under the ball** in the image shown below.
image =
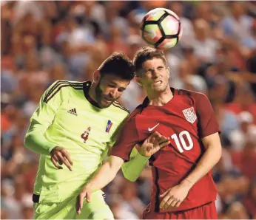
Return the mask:
M169 87L163 52L141 48L134 58L136 80L146 90L144 102L130 114L107 163L84 186L78 202L115 177L132 147L154 131L171 142L152 155L154 186L144 219L217 219L217 190L212 167L221 156L218 123L208 98ZM80 200L79 200L80 199Z

